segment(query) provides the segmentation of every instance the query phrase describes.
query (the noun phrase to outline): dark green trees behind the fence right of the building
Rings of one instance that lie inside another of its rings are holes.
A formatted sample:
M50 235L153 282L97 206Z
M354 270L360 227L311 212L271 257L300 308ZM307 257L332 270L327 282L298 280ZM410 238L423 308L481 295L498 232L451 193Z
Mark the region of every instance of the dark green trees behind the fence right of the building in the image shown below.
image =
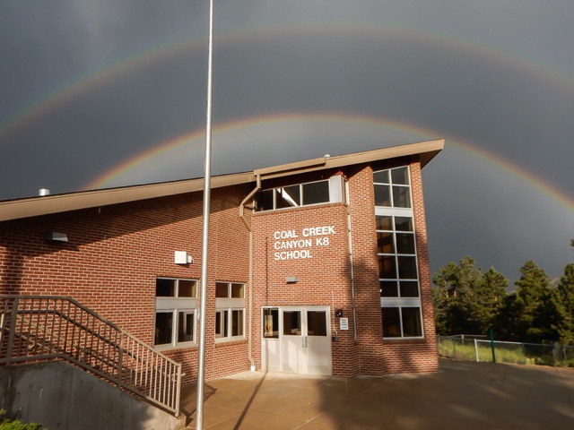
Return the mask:
M574 247L574 239L570 240ZM552 280L535 262L520 268L516 290L491 268L483 273L466 256L449 262L432 279L437 334L486 334L499 340L574 346L574 263Z

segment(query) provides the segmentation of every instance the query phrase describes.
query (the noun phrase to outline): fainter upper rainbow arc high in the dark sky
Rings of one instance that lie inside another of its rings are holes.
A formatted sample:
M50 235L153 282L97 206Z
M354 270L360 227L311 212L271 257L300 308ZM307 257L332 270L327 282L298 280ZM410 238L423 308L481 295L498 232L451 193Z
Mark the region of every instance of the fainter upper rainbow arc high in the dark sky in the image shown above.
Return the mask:
M502 51L496 47L488 47L471 43L468 41L449 39L444 36L430 32L414 29L383 29L373 25L349 25L344 23L316 23L313 25L292 25L290 27L257 27L248 29L231 29L222 31L216 35L215 47L224 44L235 44L248 42L253 39L282 38L294 34L325 35L329 32L337 34L344 33L349 36L372 37L380 39L393 39L397 42L411 41L431 47L441 47L455 52L471 53L480 56L487 62L506 64L519 70L531 73L538 80L554 82L566 90L574 93L574 81L572 78L561 72L554 71L541 64L528 62L513 53ZM195 56L205 49L204 38L193 40L179 40L170 44L154 46L149 49L135 53L133 56L122 58L116 63L107 64L93 73L78 76L71 82L65 82L52 90L42 94L39 99L21 107L7 116L0 123L0 145L7 142L7 138L21 130L25 125L49 115L50 112L64 107L74 99L81 98L84 94L104 86L108 82L117 80L137 69L155 64L160 61L167 61L178 56Z

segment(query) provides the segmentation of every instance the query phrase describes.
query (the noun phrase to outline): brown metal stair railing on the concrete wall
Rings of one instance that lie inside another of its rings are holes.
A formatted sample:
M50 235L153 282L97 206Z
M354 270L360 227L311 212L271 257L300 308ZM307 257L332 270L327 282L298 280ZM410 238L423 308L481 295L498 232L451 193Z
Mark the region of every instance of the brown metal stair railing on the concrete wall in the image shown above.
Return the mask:
M181 365L70 297L0 296L0 365L64 360L179 414Z

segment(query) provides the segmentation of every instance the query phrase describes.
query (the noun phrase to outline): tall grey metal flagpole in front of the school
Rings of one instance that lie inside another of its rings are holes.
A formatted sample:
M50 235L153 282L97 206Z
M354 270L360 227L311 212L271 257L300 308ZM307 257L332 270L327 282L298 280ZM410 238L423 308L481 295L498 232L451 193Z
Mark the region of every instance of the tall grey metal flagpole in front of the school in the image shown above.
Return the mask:
M199 308L199 357L197 359L196 430L204 429L205 314L207 310L207 256L212 164L213 0L209 0L209 47L207 59L207 115L205 122L204 214L201 251L201 299Z

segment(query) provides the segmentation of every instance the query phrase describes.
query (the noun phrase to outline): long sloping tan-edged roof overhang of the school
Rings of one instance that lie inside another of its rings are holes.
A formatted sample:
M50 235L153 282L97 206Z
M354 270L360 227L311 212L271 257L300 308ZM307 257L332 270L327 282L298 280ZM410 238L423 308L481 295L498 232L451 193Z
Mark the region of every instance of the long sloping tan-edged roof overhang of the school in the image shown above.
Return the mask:
M395 159L413 155L419 156L421 165L424 167L444 148L444 142L444 139L440 139L437 141L412 143L380 150L367 150L347 155L308 159L272 168L259 168L253 172L213 176L211 185L212 188L221 188L223 186L248 184L255 182L257 176L261 176L262 179L270 179L327 168L341 168L371 161ZM49 213L75 211L116 203L135 202L180 193L192 193L202 191L203 188L204 178L201 177L157 184L129 185L100 190L6 200L0 202L0 221L29 218L47 215Z

